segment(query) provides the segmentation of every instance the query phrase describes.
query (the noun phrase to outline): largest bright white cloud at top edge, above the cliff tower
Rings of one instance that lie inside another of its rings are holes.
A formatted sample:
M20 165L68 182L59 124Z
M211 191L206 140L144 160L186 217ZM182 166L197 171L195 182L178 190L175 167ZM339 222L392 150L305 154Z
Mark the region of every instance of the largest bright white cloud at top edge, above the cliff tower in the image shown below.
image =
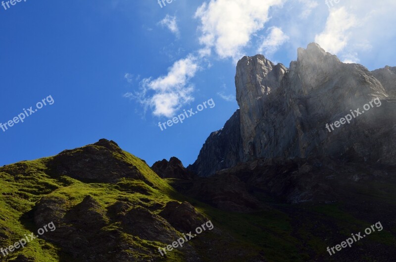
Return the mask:
M271 6L284 0L210 0L198 7L199 43L214 48L221 58L240 58L253 33L264 28Z

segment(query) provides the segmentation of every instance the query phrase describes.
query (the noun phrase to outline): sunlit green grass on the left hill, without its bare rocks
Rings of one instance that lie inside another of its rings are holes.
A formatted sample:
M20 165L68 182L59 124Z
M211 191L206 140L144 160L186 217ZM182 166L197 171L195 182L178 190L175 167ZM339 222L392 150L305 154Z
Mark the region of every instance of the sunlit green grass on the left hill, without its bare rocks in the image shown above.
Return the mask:
M94 146L98 150L103 150L100 146ZM79 151L77 149L76 151ZM91 195L100 203L103 208L108 208L119 199L124 199L136 206L164 206L170 198L167 193L177 196L171 186L160 179L148 166L138 157L127 152L112 152L113 157L135 166L144 175L147 183L141 180L122 178L116 184L110 183L84 183L68 176L59 175L53 172L53 166L49 164L55 157L47 157L33 161L23 161L0 168L0 227L1 247L7 247L25 234L36 232L32 221L24 221L23 217L34 208L36 203L44 196L49 198L62 198L66 202L67 208L72 208L80 203L84 197ZM155 212L159 212L157 210ZM113 230L120 229L113 225ZM30 229L30 230L29 230ZM126 241L133 242L134 245L146 247L152 252L161 243L149 243L146 240L133 238L125 234ZM156 248L152 248L156 246ZM46 243L43 239L34 240L26 248L19 249L1 261L12 261L18 255L23 254L27 258L35 258L36 261L59 261L59 249L51 243ZM127 252L127 251L125 251ZM131 251L128 251L131 252ZM137 254L142 256L142 254ZM167 261L183 261L180 252L173 252L167 256Z

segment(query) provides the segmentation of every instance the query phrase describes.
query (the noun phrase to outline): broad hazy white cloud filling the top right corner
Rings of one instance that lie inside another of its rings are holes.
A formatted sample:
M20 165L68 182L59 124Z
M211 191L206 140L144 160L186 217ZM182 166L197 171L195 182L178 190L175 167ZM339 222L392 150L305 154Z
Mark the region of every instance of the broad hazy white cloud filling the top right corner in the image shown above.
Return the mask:
M375 62L379 53L393 52L390 43L396 37L391 26L396 24L395 9L395 0L334 3L315 42L344 61L358 62L361 57Z

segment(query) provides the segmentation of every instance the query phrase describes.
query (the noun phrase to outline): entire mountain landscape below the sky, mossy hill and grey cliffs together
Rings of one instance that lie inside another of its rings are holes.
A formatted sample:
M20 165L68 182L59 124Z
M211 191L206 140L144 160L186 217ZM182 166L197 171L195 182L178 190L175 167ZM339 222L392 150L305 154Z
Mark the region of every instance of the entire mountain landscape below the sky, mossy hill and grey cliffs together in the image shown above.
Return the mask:
M188 168L106 139L2 166L0 261L394 262L395 72L316 44L244 57L240 109Z

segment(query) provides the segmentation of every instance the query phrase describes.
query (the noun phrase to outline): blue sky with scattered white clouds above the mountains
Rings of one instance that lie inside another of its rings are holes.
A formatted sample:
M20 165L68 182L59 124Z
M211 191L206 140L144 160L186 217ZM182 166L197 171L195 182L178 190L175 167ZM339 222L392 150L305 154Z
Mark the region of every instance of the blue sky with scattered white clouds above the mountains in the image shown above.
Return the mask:
M105 138L187 166L238 109L244 55L396 65L394 0L169 1L1 2L0 165Z

